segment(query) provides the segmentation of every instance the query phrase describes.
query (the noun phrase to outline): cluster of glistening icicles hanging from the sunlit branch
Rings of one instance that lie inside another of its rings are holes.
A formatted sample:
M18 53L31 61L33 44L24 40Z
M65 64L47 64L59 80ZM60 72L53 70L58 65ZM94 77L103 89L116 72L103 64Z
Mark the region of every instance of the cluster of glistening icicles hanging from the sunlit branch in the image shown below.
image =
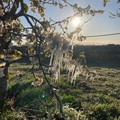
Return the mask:
M73 57L74 46L78 44L76 39L63 36L59 33L45 34L44 46L46 51L50 53L48 72L51 73L52 79L55 82L60 81L62 71L68 74L70 83L75 84L77 77L80 74L86 76L88 74L87 68L84 68L86 63L84 53ZM88 77L88 76L87 76Z

